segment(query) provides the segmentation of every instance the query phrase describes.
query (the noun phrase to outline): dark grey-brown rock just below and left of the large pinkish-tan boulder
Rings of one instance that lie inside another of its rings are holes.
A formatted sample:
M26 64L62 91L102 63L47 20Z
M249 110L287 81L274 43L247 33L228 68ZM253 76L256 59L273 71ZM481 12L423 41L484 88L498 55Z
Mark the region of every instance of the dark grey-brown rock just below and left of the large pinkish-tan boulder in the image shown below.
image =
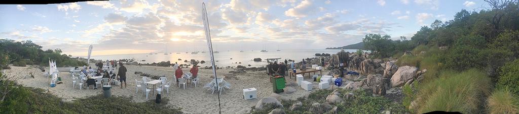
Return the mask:
M380 74L367 75L366 85L373 90L373 94L385 95L386 88L389 88L389 79Z

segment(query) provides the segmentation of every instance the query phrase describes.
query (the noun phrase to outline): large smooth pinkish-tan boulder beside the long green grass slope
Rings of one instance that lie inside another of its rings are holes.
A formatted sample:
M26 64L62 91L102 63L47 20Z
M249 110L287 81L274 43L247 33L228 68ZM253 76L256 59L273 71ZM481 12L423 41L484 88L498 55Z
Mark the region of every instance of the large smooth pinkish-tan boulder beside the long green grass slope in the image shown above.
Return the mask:
M391 87L399 87L404 85L408 80L415 78L418 68L403 66L398 68L397 72L391 77Z

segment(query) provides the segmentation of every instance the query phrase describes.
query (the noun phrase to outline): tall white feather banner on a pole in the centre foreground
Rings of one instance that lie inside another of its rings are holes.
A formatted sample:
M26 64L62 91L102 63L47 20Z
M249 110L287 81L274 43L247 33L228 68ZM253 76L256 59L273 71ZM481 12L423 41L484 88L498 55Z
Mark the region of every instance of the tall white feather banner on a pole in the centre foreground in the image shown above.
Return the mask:
M209 47L209 56L211 57L211 64L213 66L212 68L213 68L214 78L218 79L218 77L216 76L216 69L214 67L213 46L211 43L211 33L209 30L209 19L207 18L207 10L206 10L205 3L202 3L202 21L203 21L204 31L206 31L207 47ZM218 88L218 81L215 81L215 82L216 82L216 88ZM218 112L222 113L222 107L220 105L220 94L218 94Z

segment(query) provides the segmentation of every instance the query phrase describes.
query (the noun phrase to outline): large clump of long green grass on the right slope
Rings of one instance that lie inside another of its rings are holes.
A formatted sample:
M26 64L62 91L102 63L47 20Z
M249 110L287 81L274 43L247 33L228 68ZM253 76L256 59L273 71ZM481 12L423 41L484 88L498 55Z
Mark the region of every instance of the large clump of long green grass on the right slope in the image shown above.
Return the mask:
M443 71L440 78L425 83L419 90L419 113L435 110L482 113L482 97L490 90L490 78L480 70L471 69L461 73Z

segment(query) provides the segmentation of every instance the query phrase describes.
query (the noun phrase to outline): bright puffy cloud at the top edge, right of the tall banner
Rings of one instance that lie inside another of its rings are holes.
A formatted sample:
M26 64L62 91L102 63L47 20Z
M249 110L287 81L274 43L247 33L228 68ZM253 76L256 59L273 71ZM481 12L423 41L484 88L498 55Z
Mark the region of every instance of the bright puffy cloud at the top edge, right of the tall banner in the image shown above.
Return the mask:
M309 14L315 13L317 8L312 5L309 0L304 0L294 8L285 11L285 15L289 17L307 17Z

